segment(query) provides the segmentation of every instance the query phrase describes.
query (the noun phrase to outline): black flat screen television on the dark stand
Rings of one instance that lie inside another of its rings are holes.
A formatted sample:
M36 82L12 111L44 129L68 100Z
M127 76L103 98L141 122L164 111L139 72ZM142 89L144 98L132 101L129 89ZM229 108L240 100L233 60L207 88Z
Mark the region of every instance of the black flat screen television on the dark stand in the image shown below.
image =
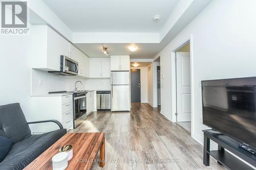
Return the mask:
M256 77L202 81L203 124L256 150Z

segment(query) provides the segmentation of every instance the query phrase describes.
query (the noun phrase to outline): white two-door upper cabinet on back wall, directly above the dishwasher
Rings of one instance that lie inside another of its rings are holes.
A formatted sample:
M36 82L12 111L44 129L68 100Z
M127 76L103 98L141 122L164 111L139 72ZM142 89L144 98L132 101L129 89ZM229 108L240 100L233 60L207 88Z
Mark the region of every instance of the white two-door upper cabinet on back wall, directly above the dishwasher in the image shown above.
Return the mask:
M90 58L90 78L110 78L110 58Z

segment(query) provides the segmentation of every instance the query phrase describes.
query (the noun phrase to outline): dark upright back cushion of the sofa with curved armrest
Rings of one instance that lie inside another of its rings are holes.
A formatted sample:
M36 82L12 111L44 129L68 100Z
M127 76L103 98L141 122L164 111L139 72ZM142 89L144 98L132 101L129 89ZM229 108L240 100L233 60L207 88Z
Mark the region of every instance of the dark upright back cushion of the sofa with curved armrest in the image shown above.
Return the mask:
M4 136L16 143L31 135L19 103L0 106L0 117L0 136Z

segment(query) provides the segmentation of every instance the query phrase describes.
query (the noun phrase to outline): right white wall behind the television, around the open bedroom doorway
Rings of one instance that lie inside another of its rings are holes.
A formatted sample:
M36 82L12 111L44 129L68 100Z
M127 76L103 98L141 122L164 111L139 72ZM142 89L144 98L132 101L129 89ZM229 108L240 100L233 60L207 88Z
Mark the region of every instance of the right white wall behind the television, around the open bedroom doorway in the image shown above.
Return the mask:
M161 56L161 112L175 122L174 51L190 39L191 135L203 142L201 80L256 76L256 1L212 1L157 56ZM156 57L157 57L156 56Z

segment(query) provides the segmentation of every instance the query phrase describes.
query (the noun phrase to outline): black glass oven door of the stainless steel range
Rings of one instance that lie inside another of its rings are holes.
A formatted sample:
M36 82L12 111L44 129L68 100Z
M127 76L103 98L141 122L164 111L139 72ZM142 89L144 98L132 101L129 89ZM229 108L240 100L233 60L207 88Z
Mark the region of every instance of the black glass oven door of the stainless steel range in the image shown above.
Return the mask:
M86 95L77 96L75 101L75 120L86 114Z

